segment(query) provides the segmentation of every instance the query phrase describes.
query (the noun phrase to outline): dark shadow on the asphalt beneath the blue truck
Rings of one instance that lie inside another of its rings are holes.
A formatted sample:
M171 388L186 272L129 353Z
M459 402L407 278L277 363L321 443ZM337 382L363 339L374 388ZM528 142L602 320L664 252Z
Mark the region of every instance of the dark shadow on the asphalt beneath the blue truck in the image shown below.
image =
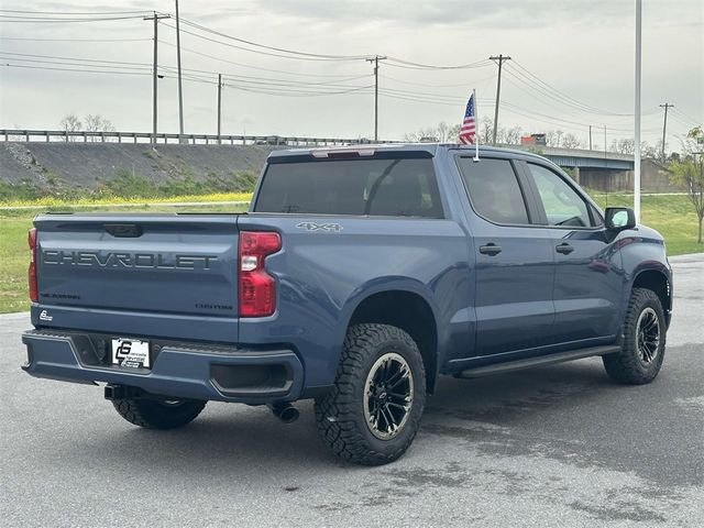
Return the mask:
M486 443L486 449L491 447L494 452L515 452L517 438L539 440L549 432L541 430L546 424L552 428L556 420L579 415L583 406L604 405L604 398L624 388L608 381L601 361L471 381L442 377L437 393L428 399L419 438L436 437L436 447L463 441L468 447L482 449ZM312 403L302 402L298 407L300 418L284 425L266 407L210 403L193 424L170 431L135 428L117 414L109 415L101 420L109 431L90 435L74 457L98 455L119 464L152 469L162 464L164 469L172 468L174 459L178 459L182 470L186 465L195 472L212 471L213 464L226 473L250 465L349 468L319 441ZM574 436L574 442L583 443L583 431L571 435L564 427L558 429L566 433L562 441L570 442ZM422 444L415 446L407 457L422 449ZM526 449L529 446L524 444L522 450Z

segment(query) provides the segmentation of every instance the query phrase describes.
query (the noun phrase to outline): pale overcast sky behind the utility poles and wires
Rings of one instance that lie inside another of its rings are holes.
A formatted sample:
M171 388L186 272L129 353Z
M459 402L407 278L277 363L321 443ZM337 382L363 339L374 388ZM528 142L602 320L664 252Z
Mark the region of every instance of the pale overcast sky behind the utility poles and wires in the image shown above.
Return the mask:
M661 138L659 105L669 102L668 144L676 151L704 121L704 1L642 3L642 139ZM504 54L512 61L503 70L502 127L562 130L587 143L591 124L595 148L604 125L607 144L634 135L634 0L179 7L186 133L216 133L221 73L223 134L373 138L365 58L375 55L388 57L380 62L380 139L459 123L472 89L481 120L493 117L496 97L498 68L488 57ZM174 1L0 0L0 128L56 130L74 113L151 131L153 23L143 14L153 11L174 14ZM109 18L119 20L96 20ZM158 25L158 130L177 132L174 19Z

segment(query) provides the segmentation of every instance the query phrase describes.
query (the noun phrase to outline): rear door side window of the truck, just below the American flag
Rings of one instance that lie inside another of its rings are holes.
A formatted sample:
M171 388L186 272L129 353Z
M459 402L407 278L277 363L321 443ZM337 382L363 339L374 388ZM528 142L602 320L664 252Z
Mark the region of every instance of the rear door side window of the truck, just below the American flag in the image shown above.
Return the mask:
M460 173L477 215L496 223L529 223L526 201L508 160L459 158Z

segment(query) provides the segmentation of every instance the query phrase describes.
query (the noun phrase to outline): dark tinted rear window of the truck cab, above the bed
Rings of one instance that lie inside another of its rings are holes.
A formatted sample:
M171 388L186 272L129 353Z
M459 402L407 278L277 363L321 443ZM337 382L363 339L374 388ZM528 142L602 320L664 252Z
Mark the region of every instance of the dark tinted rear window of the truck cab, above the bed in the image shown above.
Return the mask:
M255 212L442 218L429 158L271 164Z

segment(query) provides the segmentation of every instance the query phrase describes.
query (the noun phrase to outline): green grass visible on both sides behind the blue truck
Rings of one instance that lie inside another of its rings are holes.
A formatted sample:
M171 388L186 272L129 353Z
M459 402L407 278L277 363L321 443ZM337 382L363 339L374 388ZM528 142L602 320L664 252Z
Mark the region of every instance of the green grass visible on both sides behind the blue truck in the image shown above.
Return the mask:
M207 206L167 207L145 206L144 199L133 207L112 208L120 212L239 212L244 206L218 205L218 201L235 201L241 195L211 195L228 197L212 200ZM593 193L602 206L632 206L632 195L601 195ZM249 195L248 198L249 199ZM206 201L202 196L180 196L169 201ZM130 204L116 201L116 204ZM141 205L139 205L141 204ZM46 210L66 211L69 207L47 207ZM75 209L78 212L110 211L109 205ZM29 250L26 231L38 211L18 209L0 210L0 314L22 311L29 308L26 292L26 266ZM668 254L697 253L704 245L696 243L696 215L686 196L644 196L641 202L642 223L657 229L666 239Z

